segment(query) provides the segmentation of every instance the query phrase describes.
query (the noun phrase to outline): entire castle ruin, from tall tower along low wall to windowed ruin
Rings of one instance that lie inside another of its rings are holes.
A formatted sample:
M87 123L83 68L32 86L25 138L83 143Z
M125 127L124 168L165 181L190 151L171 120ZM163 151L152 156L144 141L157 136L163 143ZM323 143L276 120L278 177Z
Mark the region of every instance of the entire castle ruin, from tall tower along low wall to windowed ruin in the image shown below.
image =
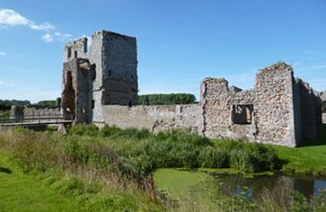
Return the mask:
M200 102L190 105L137 105L137 40L97 31L66 44L62 112L75 123L147 128L153 132L189 129L206 137L246 139L299 146L316 138L322 101L293 68L277 63L261 69L254 88L229 86L206 78Z

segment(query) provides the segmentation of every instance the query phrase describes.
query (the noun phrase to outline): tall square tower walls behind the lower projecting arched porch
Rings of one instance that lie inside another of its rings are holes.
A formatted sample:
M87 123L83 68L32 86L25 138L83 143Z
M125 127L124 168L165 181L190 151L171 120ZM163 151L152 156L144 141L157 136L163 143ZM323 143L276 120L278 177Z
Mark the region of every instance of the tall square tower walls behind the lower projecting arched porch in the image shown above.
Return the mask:
M75 56L87 58L94 73L92 88L89 88L94 121L103 121L102 105L137 104L136 38L111 31L96 31L89 51L86 38L66 44L64 62L73 61Z

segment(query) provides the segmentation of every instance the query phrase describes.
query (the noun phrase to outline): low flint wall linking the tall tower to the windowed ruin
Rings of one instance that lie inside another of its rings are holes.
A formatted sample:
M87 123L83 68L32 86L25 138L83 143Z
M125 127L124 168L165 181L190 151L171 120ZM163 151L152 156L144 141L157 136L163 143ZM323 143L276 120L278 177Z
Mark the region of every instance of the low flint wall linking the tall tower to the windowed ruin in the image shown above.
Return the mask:
M202 135L203 115L199 104L132 107L105 105L102 110L103 121L110 126L147 128L154 133L180 128Z

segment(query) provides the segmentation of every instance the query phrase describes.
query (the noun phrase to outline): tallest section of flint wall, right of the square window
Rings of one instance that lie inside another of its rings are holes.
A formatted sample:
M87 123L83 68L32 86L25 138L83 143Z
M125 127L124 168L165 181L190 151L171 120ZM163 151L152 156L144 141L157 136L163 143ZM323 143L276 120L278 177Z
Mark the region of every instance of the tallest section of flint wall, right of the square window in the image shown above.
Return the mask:
M279 62L256 76L255 115L264 143L296 146L293 68Z

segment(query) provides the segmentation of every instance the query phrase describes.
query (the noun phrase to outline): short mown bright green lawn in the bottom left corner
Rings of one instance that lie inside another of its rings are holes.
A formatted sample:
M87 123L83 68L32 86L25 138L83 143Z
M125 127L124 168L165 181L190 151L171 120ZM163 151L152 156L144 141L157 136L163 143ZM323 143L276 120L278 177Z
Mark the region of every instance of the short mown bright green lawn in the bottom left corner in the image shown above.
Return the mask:
M83 207L66 199L40 181L23 174L0 153L1 211L82 211Z

